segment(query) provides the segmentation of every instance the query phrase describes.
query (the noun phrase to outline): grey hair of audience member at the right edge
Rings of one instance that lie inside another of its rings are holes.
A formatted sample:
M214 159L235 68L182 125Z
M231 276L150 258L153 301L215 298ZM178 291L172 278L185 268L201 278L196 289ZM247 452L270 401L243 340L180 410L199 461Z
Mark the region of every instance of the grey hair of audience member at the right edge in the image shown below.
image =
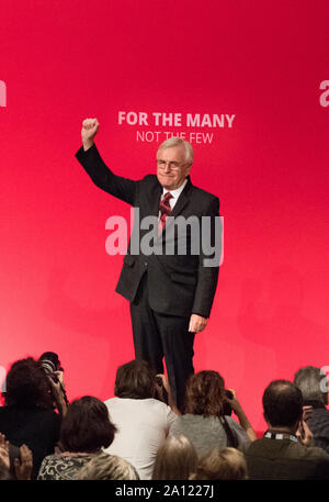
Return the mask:
M320 368L305 366L295 373L294 383L300 389L304 401L319 401L327 404L328 394L321 391L321 380L326 376Z

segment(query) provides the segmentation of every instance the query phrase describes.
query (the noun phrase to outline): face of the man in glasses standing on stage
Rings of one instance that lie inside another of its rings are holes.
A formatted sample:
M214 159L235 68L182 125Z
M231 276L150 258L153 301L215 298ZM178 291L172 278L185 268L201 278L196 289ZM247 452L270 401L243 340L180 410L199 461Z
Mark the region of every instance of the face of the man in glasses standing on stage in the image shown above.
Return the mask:
M179 188L191 170L185 161L183 145L160 148L157 154L157 176L159 183L167 190Z

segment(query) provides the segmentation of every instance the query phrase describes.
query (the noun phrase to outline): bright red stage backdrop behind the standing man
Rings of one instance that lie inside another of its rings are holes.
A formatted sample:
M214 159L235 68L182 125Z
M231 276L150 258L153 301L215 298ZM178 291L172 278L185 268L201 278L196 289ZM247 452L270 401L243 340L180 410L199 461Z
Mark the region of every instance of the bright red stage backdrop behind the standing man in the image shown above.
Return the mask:
M328 1L1 0L0 19L0 366L54 350L70 399L113 395L134 350L105 221L129 208L75 159L81 121L99 119L104 159L134 179L155 170L155 133L192 133L192 181L225 219L195 369L218 370L262 428L270 380L329 365Z

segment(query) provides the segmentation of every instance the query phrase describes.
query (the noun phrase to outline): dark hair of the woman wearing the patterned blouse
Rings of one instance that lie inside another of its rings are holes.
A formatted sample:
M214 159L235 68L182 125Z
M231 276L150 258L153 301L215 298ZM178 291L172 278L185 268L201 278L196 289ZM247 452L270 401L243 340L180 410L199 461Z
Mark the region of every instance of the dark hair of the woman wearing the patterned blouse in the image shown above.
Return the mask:
M64 451L95 453L112 444L115 432L106 405L98 398L86 395L69 405L59 443Z

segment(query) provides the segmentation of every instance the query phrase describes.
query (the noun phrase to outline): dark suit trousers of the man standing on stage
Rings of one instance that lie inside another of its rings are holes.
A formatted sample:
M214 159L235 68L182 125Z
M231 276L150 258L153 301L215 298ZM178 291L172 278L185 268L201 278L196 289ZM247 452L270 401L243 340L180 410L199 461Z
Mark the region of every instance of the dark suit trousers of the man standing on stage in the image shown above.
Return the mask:
M190 317L162 314L149 306L147 272L143 276L131 303L136 359L150 364L163 373L163 357L173 400L183 412L186 381L194 373L194 333L189 332Z

